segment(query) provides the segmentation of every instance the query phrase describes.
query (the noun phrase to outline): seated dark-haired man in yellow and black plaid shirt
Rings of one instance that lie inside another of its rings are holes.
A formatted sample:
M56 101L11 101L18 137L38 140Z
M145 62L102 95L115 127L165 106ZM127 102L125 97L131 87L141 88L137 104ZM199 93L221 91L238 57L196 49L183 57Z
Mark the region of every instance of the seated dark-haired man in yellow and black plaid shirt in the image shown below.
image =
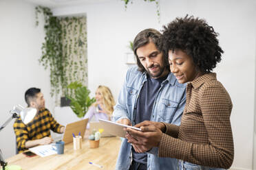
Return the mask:
M14 122L13 128L19 153L36 145L52 143L50 130L63 133L65 129L63 125L54 120L50 111L45 108L45 99L39 88L29 88L25 92L25 101L28 107L36 108L37 113L27 125L21 121L21 118Z

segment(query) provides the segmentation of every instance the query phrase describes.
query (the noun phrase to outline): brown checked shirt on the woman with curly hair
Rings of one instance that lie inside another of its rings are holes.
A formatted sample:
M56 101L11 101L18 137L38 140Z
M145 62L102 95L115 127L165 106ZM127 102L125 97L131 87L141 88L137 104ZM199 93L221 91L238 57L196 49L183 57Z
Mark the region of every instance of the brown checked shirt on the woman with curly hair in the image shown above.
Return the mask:
M228 169L234 158L231 110L231 98L215 73L188 83L181 125L165 123L159 156Z

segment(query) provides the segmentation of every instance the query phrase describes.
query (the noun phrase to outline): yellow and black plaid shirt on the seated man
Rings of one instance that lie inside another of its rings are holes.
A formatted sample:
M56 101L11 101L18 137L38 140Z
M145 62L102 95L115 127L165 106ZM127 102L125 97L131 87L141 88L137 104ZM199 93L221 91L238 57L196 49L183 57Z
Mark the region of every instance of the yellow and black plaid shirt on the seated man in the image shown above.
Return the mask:
M50 130L61 133L61 127L63 125L55 121L47 108L39 110L34 119L27 125L21 121L21 118L17 119L13 128L19 153L26 150L25 142L44 138L45 136L50 137Z

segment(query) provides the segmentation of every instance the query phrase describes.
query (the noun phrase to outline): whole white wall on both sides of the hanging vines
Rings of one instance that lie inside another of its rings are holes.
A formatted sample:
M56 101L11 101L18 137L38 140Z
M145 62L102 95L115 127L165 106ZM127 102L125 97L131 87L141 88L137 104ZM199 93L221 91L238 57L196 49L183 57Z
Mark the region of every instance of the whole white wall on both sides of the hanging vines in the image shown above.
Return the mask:
M255 8L253 0L160 1L158 23L154 3L134 1L125 11L123 1L53 9L56 15L87 14L88 79L92 95L99 84L111 88L115 99L127 65L128 41L140 30L161 29L186 13L206 19L220 33L225 53L217 66L218 79L233 100L231 123L235 141L233 169L253 169L253 114L255 104ZM46 106L53 112L49 73L39 66L43 23L34 27L34 5L19 0L0 0L0 125L15 104L25 106L23 95L31 86L41 88ZM13 122L13 121L12 121ZM0 132L4 157L15 153L12 123Z

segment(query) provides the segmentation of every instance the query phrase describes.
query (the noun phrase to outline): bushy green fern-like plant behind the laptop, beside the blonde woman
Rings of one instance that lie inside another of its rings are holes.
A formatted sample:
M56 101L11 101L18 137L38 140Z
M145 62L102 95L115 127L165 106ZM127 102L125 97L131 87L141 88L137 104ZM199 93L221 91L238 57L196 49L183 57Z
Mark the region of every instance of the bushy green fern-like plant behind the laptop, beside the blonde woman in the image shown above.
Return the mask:
M90 91L81 82L72 82L67 86L67 93L65 97L70 99L70 108L77 117L84 117L96 99L89 97Z

